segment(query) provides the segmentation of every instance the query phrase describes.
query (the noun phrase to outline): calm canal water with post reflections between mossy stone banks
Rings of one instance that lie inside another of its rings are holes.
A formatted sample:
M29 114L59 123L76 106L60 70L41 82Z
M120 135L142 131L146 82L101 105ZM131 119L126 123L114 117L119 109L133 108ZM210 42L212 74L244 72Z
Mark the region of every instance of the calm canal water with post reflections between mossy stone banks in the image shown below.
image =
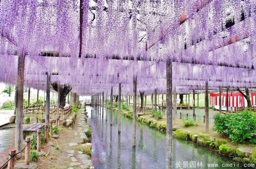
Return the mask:
M91 108L87 106L87 109ZM133 148L132 119L121 116L121 133L118 134L117 113L113 113L112 127L108 123L109 118L105 120L105 114L104 118L97 118L96 113L92 112L87 119L92 128L92 161L95 168L165 168L165 133L137 123L136 147ZM177 162L183 167L183 162L202 161L204 167L201 168L208 168L209 163L234 164L231 158L221 156L213 149L176 138L173 138L172 152L173 168L176 168Z

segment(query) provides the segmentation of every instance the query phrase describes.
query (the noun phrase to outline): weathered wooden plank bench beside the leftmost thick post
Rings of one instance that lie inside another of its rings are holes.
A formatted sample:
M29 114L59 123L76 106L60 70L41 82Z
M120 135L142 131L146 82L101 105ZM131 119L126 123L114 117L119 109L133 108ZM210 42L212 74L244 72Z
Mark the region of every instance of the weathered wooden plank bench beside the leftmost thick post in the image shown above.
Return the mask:
M26 127L23 127L23 139L25 140L26 137L31 137L33 139L36 137L37 133L36 131L44 128L45 123L32 123Z

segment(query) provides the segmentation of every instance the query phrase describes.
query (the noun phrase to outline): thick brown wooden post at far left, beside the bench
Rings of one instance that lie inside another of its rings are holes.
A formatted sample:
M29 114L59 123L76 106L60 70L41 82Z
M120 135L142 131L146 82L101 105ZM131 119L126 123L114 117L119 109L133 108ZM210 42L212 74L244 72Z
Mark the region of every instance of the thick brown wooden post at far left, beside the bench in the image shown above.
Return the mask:
M17 75L17 108L15 119L15 149L20 152L23 143L23 90L24 90L24 68L25 68L25 54L19 55L18 58L18 75ZM21 153L17 155L21 157Z

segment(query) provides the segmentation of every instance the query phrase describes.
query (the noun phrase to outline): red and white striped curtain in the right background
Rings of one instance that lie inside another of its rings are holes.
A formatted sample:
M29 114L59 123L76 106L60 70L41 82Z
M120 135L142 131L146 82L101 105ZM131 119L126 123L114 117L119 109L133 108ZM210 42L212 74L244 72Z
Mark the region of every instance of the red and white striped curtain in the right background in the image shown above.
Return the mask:
M251 93L252 106L255 101L255 93ZM219 106L219 93L210 93L210 105ZM221 106L227 106L227 94L221 93ZM244 96L237 93L228 93L228 107L247 107L247 101Z

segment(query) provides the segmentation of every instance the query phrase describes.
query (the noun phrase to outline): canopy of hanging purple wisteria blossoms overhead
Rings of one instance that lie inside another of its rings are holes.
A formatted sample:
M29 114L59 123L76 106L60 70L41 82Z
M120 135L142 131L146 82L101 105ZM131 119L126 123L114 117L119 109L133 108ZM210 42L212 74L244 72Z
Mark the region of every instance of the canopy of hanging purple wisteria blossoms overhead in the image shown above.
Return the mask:
M70 84L79 95L256 87L255 0L0 0L0 81Z

